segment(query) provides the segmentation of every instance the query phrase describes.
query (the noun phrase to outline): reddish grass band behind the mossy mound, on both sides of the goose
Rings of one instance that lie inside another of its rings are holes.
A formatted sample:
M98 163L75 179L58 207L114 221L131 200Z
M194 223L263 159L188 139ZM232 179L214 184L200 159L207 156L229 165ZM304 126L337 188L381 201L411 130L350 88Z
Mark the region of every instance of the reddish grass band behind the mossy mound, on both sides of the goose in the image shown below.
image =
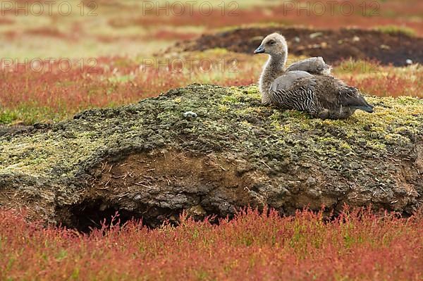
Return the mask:
M234 58L235 67L231 65ZM13 62L10 67L5 61L0 72L0 104L6 111L0 115L0 123L61 120L87 108L129 104L194 82L250 85L257 82L262 65L246 58L231 53L192 54L192 58L168 61L152 58L153 63L144 67L140 60L109 57L71 64L66 59L51 64L39 59L18 61L23 65ZM423 72L419 68L396 70L375 64L374 73L367 73L371 70L357 65L347 70L336 68L336 75L367 94L422 96Z

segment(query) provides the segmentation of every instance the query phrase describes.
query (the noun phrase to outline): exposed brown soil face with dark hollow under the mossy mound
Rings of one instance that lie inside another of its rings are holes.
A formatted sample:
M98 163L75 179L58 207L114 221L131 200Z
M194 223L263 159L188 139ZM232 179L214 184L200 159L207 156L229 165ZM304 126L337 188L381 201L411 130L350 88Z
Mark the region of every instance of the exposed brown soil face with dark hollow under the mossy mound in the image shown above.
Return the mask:
M100 213L102 218L111 218L116 211L123 220L143 218L152 227L164 220L176 221L176 214L183 210L198 219L212 213L226 216L234 203L257 205L247 189L252 178L237 174L236 168L235 163L213 154L166 149L133 154L118 162L104 161L94 170L92 188L86 189L83 203L56 211L63 216L63 225L83 231L93 222L99 224ZM221 202L210 200L216 194Z

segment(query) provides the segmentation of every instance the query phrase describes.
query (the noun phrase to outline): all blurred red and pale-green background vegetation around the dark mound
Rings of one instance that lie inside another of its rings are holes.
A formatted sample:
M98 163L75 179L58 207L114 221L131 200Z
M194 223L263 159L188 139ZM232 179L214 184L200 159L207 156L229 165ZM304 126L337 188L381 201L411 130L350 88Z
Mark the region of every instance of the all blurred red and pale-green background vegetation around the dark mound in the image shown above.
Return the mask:
M63 120L85 108L136 102L192 82L248 85L257 81L264 56L221 48L176 54L166 51L176 42L204 34L269 26L355 27L412 37L423 34L423 1L419 0L350 0L336 1L332 6L316 0L47 3L20 0L1 4L0 123ZM46 58L54 61L53 67L42 63L44 67L37 68ZM146 58L153 59L152 67L143 68ZM192 69L170 71L175 58L197 59ZM231 67L203 70L204 60L213 63L222 59L226 65L236 63L236 71L230 71ZM10 60L13 66L5 67ZM32 60L37 67L30 65ZM26 66L16 68L17 63ZM63 71L66 63L71 67ZM158 68L160 64L168 67ZM422 96L419 65L393 68L376 64L374 70L336 67L334 73L369 94Z

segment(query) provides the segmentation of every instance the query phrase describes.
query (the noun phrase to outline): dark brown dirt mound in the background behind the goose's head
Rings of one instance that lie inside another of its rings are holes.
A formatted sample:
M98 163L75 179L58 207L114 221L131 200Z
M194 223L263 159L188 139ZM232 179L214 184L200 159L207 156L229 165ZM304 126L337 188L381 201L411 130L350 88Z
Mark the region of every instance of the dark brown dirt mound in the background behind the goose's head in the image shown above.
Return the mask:
M264 36L279 32L288 41L290 54L322 56L336 65L343 59L376 60L382 64L423 63L423 38L403 33L388 34L372 30L309 30L295 27L239 28L215 35L202 35L194 41L179 42L168 51L204 51L224 48L252 54Z

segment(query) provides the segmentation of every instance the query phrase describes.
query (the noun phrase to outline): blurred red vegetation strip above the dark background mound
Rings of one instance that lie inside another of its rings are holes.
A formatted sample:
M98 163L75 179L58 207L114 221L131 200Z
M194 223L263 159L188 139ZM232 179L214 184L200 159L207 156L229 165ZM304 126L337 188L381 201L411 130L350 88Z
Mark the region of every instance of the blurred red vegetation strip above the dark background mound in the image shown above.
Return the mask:
M222 2L223 3L223 2ZM331 3L331 4L329 4ZM259 4L257 4L259 5ZM263 5L263 4L262 4ZM417 34L423 35L423 25L420 21L406 20L405 17L423 10L423 2L407 1L295 1L282 5L254 8L240 8L236 2L223 5L200 8L185 5L167 9L154 6L152 10L142 11L142 16L129 20L127 25L159 25L174 26L203 25L207 27L227 27L250 23L281 23L286 25L305 25L316 28L338 29L355 26L369 28L376 25L398 25L413 28ZM162 8L162 9L160 9ZM190 9L191 8L191 9Z

